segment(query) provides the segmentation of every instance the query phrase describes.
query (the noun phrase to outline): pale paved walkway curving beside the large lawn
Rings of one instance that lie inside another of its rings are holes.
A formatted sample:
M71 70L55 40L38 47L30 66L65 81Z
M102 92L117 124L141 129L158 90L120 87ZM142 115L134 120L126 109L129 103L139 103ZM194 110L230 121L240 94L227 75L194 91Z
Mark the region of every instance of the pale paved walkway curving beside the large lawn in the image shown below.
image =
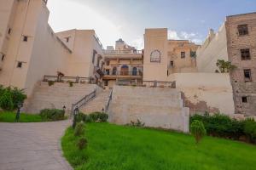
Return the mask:
M60 139L71 122L0 123L0 170L68 170Z

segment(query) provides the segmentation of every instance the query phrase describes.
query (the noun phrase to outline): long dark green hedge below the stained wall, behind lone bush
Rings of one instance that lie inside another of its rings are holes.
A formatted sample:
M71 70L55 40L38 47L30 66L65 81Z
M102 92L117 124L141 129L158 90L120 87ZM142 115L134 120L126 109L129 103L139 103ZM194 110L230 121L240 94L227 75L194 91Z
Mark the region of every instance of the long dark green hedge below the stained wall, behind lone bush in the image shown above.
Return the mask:
M195 120L203 122L207 129L207 134L211 136L239 139L244 135L244 121L236 121L229 116L221 114L209 116L209 114L205 114L190 117L190 122L194 122Z

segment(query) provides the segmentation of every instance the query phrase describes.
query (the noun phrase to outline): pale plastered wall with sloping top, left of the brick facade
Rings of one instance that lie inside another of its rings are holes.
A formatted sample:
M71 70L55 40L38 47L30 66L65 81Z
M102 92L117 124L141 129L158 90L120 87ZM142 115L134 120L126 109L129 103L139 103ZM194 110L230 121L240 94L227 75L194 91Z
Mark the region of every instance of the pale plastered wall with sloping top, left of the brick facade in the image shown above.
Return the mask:
M221 26L217 33L210 30L207 40L196 52L197 70L199 72L215 72L218 59L228 61L227 38L225 26Z

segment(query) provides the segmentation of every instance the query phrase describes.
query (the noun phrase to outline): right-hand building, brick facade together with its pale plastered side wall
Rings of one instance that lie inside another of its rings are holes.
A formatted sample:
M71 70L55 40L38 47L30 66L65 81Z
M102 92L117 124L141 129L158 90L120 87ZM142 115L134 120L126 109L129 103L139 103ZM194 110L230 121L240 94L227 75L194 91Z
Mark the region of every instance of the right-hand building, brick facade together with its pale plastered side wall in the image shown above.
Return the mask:
M256 115L256 13L227 16L217 33L212 30L197 50L200 72L215 72L218 59L230 61L236 114Z

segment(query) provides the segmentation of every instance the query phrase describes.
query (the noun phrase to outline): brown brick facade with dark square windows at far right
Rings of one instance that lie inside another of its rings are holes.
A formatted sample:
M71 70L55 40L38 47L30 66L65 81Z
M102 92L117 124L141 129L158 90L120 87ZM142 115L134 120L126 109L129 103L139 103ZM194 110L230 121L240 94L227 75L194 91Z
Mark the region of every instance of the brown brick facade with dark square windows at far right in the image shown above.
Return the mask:
M225 27L236 114L256 116L256 13L228 16Z

